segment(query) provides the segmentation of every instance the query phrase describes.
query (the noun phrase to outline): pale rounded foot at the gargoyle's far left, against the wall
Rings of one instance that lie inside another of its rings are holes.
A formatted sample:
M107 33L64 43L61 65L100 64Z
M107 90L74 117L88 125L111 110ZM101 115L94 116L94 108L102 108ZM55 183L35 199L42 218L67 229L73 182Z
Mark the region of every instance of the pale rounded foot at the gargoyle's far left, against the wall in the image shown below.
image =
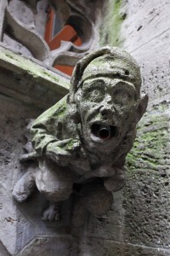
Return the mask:
M13 197L16 201L23 202L31 195L36 188L35 173L36 170L32 166L14 185Z

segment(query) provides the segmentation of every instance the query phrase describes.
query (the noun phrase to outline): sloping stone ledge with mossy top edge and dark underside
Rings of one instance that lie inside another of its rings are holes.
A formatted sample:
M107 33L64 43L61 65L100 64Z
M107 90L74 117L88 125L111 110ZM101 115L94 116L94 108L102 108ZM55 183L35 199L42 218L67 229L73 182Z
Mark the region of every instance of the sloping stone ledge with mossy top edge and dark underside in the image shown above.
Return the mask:
M70 79L41 61L19 55L0 45L0 93L46 109L69 90Z

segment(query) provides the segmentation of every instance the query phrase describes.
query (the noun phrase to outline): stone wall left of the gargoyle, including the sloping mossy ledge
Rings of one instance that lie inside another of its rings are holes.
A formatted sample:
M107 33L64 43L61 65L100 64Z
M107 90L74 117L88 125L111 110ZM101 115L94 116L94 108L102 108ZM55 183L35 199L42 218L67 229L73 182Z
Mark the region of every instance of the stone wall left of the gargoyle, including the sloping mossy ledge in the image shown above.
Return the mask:
M14 184L29 168L20 162L20 155L26 152L29 119L37 118L44 109L65 96L68 86L68 79L0 46L1 256L40 255L39 252L44 256L56 252L66 255L68 248L74 247L66 221L59 224L42 221L42 209L47 207L47 201L37 190L23 204L12 197ZM67 205L65 212L69 212ZM69 219L69 213L65 213L65 219Z

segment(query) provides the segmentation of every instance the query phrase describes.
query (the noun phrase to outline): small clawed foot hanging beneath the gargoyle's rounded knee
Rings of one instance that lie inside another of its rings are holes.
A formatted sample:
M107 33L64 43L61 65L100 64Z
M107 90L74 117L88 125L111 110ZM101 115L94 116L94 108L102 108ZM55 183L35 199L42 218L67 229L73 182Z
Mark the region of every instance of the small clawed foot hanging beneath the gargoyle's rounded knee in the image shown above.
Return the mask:
M49 207L42 213L42 220L57 221L60 218L59 203L50 202Z

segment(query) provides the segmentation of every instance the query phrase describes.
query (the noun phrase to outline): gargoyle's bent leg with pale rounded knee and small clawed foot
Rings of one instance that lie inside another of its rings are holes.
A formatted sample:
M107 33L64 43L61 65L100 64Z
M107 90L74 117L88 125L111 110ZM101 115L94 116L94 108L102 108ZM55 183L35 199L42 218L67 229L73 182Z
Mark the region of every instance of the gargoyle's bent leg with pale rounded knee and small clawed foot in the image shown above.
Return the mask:
M59 219L58 203L68 199L72 193L73 179L70 170L48 160L39 160L36 184L37 189L50 201L48 209L42 213L42 219Z

